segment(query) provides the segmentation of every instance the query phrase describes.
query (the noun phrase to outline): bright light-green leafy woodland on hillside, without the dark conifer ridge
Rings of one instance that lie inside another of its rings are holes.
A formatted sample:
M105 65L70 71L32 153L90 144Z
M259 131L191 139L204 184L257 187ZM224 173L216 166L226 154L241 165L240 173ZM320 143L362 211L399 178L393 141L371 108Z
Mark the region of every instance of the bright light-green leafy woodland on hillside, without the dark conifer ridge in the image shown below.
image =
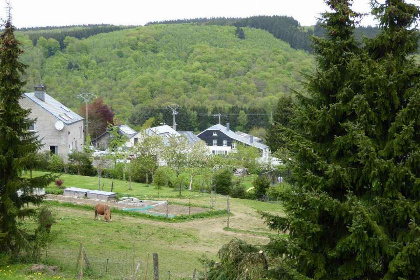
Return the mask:
M76 95L102 96L123 122L143 107L244 106L267 112L279 96L300 90L313 58L270 33L244 27L151 25L86 39L20 33L29 65L26 90L40 82L64 104L79 108ZM57 46L58 43L58 46ZM54 47L55 46L55 47Z

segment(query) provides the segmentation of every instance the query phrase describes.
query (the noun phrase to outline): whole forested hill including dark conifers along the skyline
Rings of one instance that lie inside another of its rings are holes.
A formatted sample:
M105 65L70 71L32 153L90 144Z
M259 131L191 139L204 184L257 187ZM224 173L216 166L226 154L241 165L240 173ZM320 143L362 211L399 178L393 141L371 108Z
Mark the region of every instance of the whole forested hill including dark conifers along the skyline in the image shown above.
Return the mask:
M360 27L356 36L378 29ZM267 127L279 97L303 91L313 70L312 34L285 16L214 18L149 23L33 28L17 32L25 53L26 91L44 83L48 93L79 111L76 96L103 97L119 122L172 124L200 131L222 123L245 131ZM280 40L279 40L280 39ZM239 114L241 113L241 122ZM246 121L245 121L246 119Z

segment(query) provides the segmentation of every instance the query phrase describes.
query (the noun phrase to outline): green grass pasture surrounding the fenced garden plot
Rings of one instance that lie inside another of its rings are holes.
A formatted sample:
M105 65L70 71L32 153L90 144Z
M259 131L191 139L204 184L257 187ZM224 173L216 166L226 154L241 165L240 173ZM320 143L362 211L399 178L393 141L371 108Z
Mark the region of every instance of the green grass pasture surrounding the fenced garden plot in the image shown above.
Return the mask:
M97 178L94 177L64 174L61 179L66 186L97 189ZM105 185L110 182L102 180ZM153 186L133 183L132 187L133 190L128 190L128 185L119 180L114 183L114 191L124 196L160 197L170 203L185 204L191 201L194 205L210 205L209 194L184 191L183 197L179 198L177 190L171 188L163 188L158 194ZM52 185L51 188L56 187ZM216 195L214 208L226 209L226 202L226 197ZM44 252L42 262L59 266L61 272L54 276L24 274L32 278L19 278L22 269L12 267L14 273L10 275L16 278L10 279L57 279L58 276L61 279L74 279L77 275L80 243L83 243L92 266L90 271L85 271L84 279L127 279L131 277L133 266L137 266L138 262L138 279L145 279L146 273L146 279L152 279L153 253L159 256L161 279L168 279L169 272L171 279L191 279L194 269L197 269L197 273L204 272L200 258L216 259L218 250L231 239L240 238L252 244L266 244L268 236L276 234L268 230L257 211L282 213L279 204L231 198L232 216L230 228L227 229L227 215L168 223L118 212L113 213L112 222L106 223L94 220L93 210L90 209L59 204L50 204L50 207L57 220L52 227L56 238L47 250L47 257Z

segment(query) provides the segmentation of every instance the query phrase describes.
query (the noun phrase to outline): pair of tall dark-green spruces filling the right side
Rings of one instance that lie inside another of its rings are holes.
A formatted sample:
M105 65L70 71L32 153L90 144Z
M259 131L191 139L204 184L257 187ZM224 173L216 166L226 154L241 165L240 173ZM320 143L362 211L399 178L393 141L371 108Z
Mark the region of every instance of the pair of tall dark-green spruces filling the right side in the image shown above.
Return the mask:
M359 46L348 0L326 1L317 71L284 128L294 188L282 194L288 232L267 246L276 279L420 279L419 9L374 3L381 33Z

